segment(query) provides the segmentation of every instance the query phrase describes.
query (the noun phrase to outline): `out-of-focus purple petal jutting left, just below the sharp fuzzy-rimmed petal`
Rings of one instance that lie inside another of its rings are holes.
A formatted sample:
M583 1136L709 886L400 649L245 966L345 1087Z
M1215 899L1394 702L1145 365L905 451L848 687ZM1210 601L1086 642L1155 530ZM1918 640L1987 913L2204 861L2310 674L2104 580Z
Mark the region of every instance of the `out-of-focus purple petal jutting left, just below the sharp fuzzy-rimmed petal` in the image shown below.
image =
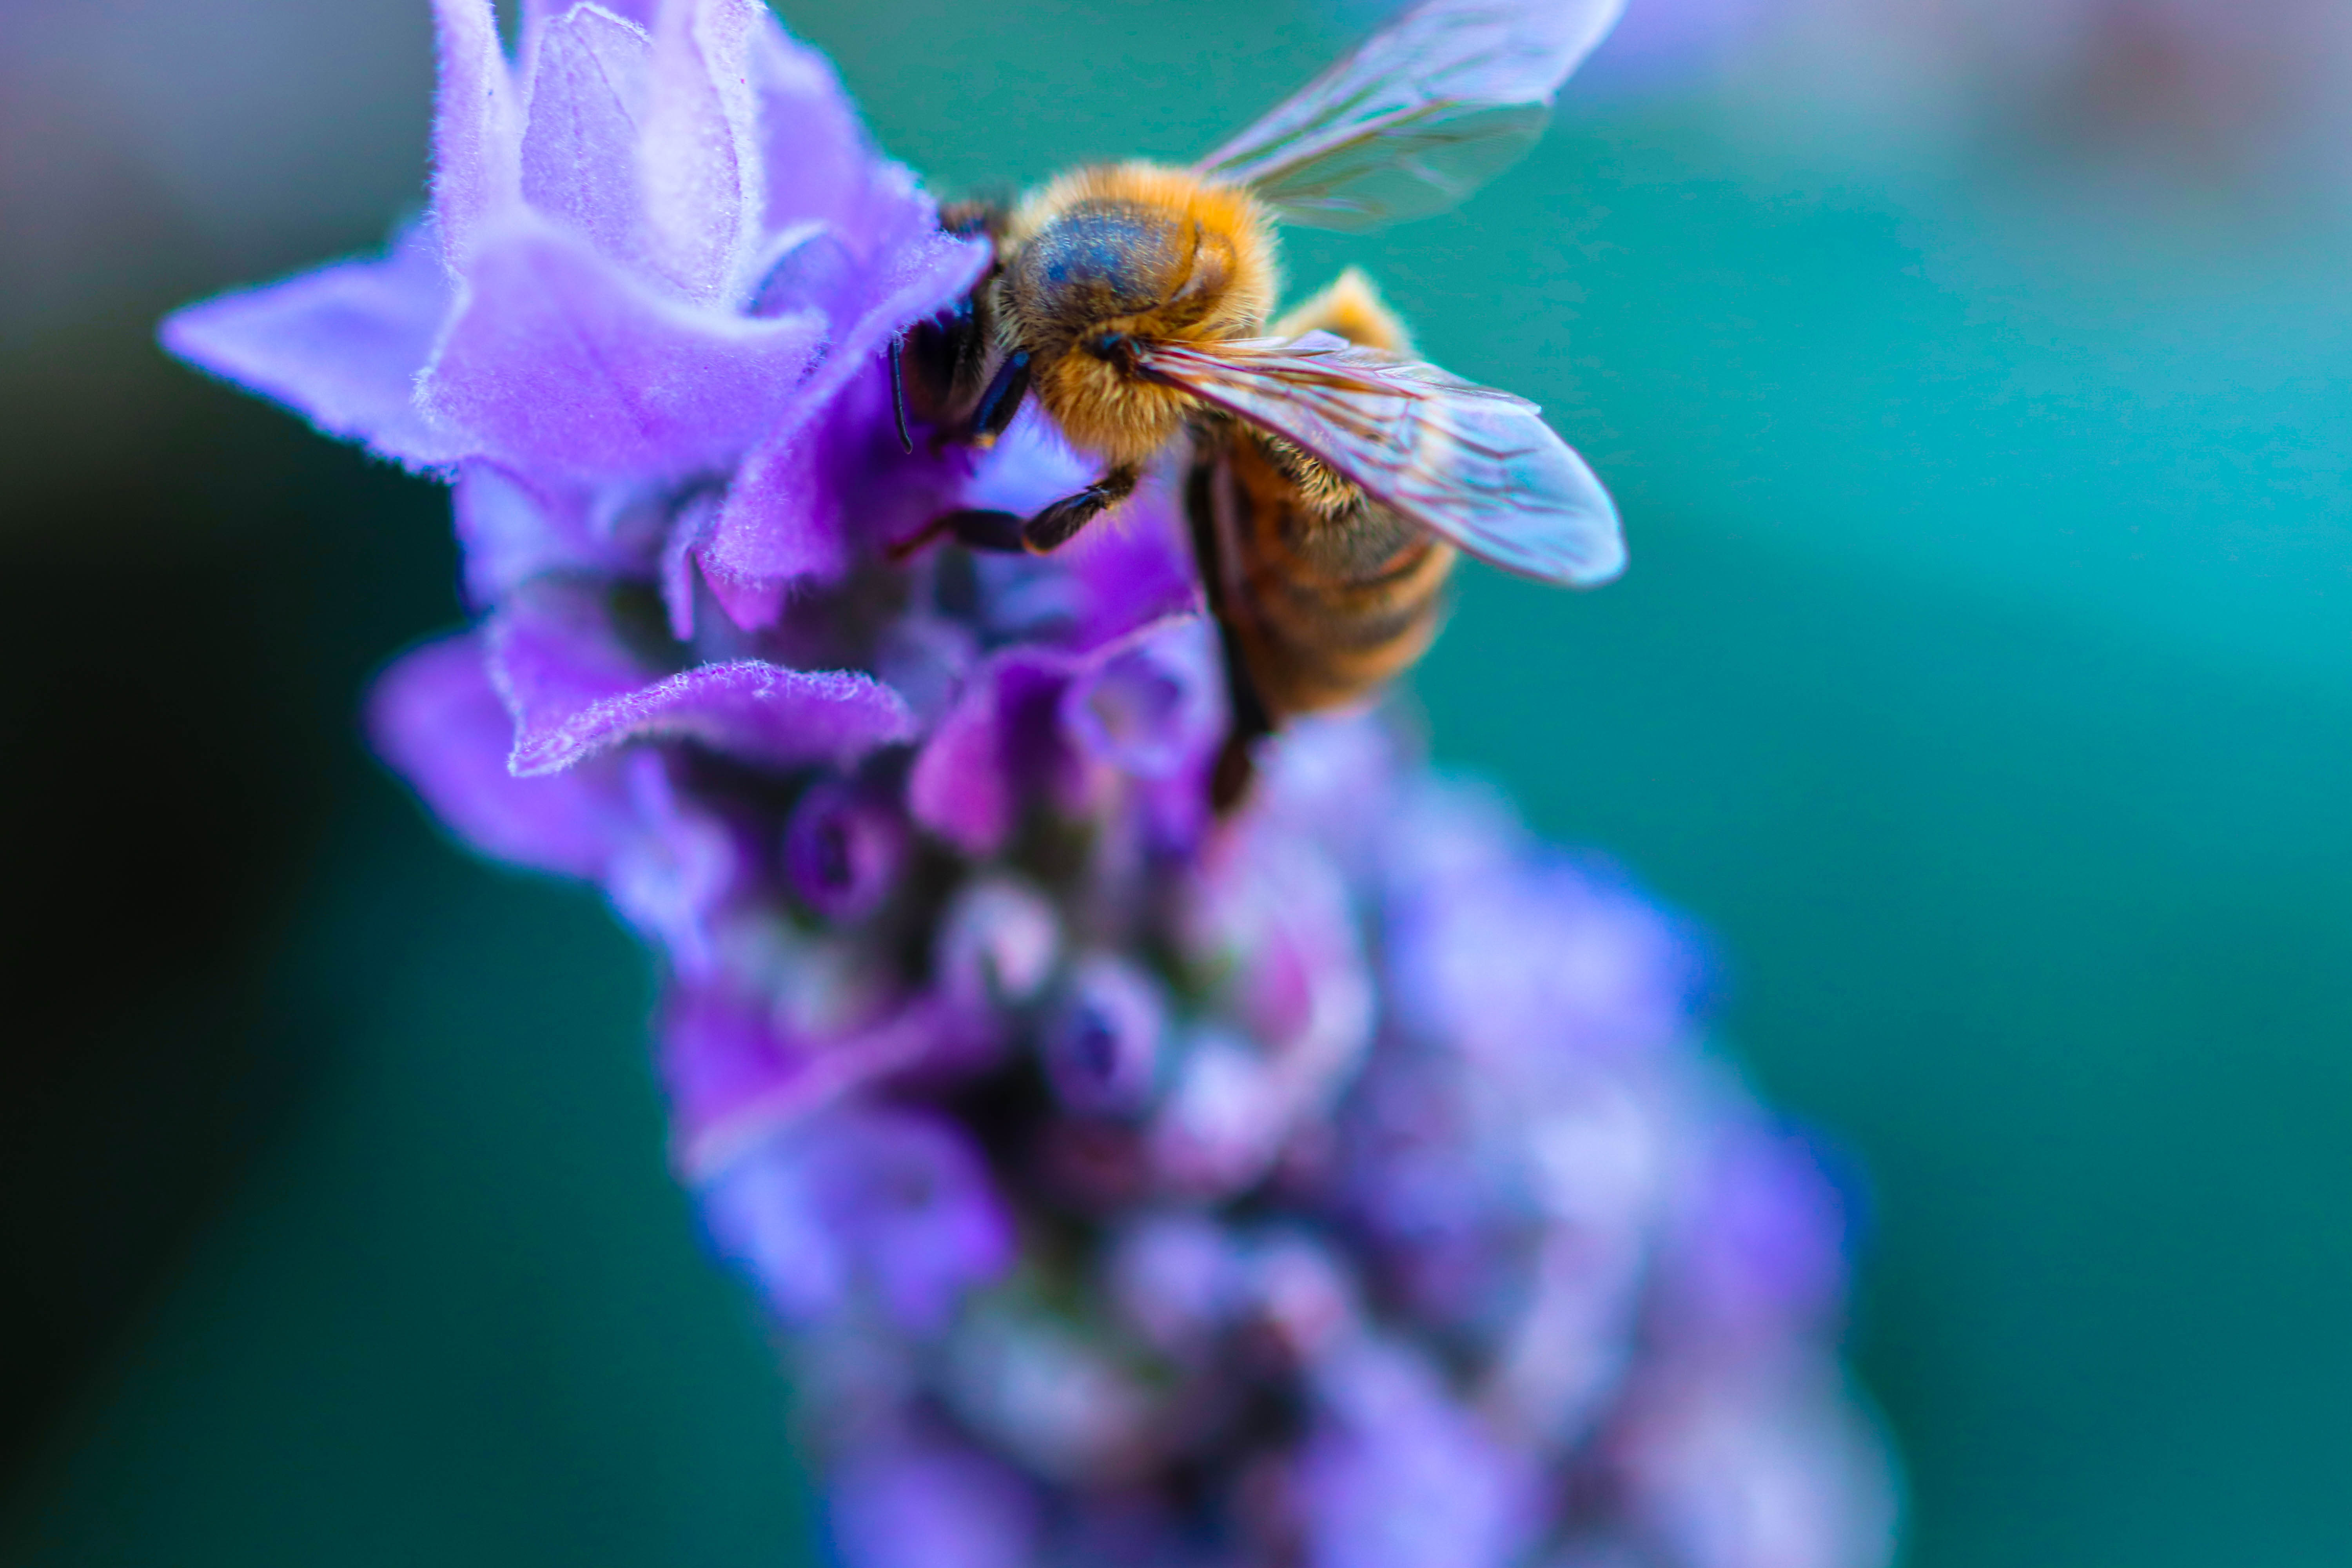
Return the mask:
M477 635L430 642L386 670L369 703L369 733L459 837L499 860L600 877L630 832L609 769L560 778L506 771L515 724L489 684Z

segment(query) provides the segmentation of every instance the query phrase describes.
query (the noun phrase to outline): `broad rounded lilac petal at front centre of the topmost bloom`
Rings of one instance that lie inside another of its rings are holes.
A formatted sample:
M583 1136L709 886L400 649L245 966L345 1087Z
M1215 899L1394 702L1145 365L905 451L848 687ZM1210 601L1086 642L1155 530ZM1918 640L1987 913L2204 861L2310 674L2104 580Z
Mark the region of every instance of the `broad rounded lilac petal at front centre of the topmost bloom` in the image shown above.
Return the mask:
M487 240L470 284L423 404L524 470L724 468L795 407L823 334L807 313L746 320L663 299L536 223Z

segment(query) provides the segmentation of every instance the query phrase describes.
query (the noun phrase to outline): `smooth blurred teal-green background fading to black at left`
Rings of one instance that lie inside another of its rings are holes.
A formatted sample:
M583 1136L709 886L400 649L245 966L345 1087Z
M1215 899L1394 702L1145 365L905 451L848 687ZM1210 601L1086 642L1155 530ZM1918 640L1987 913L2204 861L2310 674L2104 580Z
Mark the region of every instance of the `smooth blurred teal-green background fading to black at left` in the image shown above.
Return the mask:
M1367 14L788 21L955 190L1188 155ZM459 614L440 491L148 346L416 202L423 0L0 28L0 1559L804 1561L642 961L358 741ZM1294 244L1625 505L1621 585L1472 576L1432 745L1698 917L1867 1171L1915 1568L2352 1561L2352 233L1780 63L1604 73L1461 214Z

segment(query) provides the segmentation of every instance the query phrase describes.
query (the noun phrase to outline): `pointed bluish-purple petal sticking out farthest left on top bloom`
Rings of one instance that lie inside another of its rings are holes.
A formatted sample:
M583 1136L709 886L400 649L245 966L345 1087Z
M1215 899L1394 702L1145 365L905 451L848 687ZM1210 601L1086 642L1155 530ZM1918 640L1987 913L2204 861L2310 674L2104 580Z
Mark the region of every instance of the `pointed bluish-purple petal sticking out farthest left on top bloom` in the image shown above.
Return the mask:
M162 324L162 346L313 425L409 468L463 456L459 433L416 409L416 374L449 313L449 280L423 228L376 261L341 261L207 299Z

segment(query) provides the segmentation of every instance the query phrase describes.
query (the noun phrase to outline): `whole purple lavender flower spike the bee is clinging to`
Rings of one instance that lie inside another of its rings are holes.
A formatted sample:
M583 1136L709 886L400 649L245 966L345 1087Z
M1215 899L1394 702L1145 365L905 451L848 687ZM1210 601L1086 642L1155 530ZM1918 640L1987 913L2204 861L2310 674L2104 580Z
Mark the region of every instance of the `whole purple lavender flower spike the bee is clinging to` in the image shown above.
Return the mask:
M1225 682L1167 477L901 449L941 233L755 0L435 0L433 207L174 315L452 484L477 623L383 757L659 954L680 1178L797 1347L844 1568L1877 1568L1837 1199L1682 931Z

